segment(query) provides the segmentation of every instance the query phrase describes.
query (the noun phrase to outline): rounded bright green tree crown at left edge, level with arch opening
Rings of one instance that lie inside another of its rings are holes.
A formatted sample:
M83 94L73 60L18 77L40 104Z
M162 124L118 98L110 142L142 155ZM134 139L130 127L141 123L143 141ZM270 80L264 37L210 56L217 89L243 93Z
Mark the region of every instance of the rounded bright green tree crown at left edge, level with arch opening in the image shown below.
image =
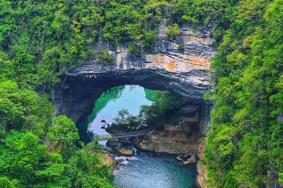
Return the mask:
M1 137L10 130L30 130L43 136L52 108L47 98L36 92L20 89L13 81L0 82Z

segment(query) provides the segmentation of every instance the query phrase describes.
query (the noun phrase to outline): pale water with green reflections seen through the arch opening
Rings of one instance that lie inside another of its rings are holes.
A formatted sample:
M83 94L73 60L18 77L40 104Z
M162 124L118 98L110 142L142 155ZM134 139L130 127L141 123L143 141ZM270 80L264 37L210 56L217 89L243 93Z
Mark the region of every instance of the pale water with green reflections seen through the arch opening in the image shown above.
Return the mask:
M120 85L105 90L94 102L91 113L78 126L81 140L89 142L93 137L107 139L111 125L114 127L118 121L121 124L116 132L129 133L146 128L138 119L140 111L150 108L158 93L158 90L139 85ZM100 143L105 146L105 141Z

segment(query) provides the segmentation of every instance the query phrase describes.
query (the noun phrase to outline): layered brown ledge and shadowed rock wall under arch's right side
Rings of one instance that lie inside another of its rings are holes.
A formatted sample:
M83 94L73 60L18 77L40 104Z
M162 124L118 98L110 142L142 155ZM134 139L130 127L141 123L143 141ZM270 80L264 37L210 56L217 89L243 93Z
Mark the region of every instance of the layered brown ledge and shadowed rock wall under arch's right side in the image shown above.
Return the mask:
M144 137L138 146L143 150L177 154L186 163L194 163L204 152L205 130L200 126L201 114L199 105L183 106L162 123L163 130Z

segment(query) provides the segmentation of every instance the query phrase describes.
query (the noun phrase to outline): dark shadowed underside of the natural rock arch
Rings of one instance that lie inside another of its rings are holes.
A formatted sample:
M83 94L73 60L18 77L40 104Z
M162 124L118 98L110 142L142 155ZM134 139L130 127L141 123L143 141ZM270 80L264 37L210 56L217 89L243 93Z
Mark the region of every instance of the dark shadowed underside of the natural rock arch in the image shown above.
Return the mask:
M209 124L211 104L203 100L209 91L209 78L206 71L188 70L168 72L162 69L133 68L116 66L82 65L74 67L62 82L62 87L53 94L57 114L65 114L76 122L81 122L92 111L94 102L101 94L121 85L142 87L175 93L199 109L199 129L205 135Z

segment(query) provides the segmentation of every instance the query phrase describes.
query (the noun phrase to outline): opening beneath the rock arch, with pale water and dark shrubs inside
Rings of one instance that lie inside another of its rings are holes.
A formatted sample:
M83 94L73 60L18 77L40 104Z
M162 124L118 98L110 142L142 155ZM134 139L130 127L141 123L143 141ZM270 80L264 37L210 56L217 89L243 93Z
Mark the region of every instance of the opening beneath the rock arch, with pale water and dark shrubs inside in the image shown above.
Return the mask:
M184 122L177 122L185 116L190 120L187 122L190 127L180 126ZM191 125L196 130L198 116L197 105L189 105L174 93L139 85L120 85L107 89L100 95L88 116L82 118L78 128L81 140L86 143L93 137L105 137L106 140L109 132L116 139L130 139L144 136L152 130L164 129L164 124L170 130L189 132ZM173 126L170 127L168 121Z

